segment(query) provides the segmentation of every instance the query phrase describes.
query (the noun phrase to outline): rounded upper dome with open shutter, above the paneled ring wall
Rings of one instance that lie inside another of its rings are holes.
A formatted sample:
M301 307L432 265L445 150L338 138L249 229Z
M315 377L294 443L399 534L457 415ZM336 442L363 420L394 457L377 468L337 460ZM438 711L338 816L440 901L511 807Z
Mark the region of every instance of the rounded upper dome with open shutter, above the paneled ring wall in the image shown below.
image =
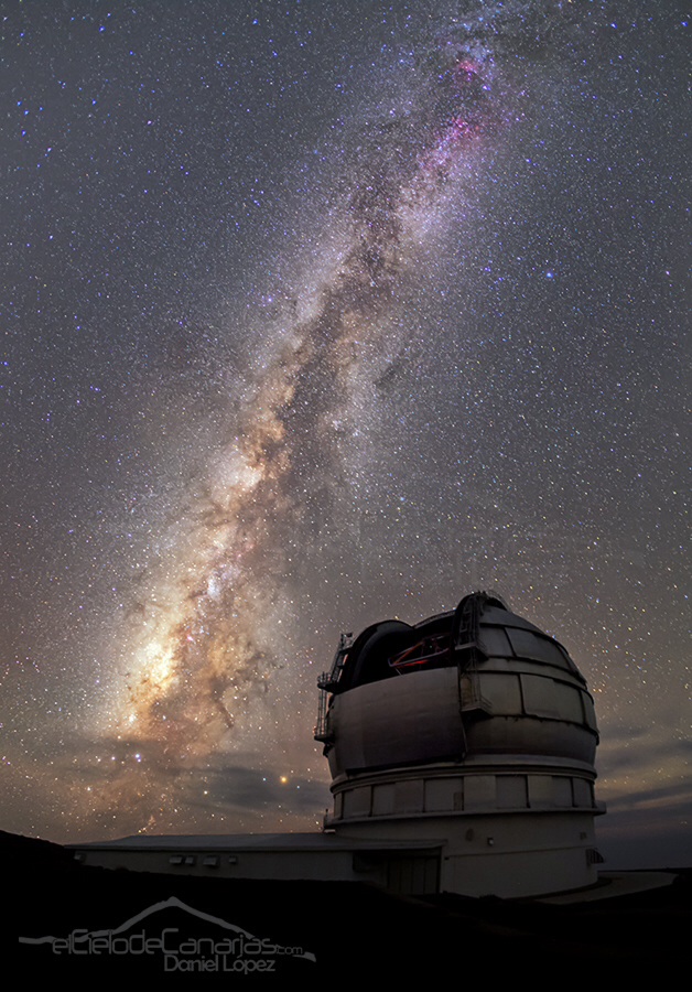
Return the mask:
M333 776L430 762L566 759L591 768L593 699L567 651L486 593L342 643L316 737Z

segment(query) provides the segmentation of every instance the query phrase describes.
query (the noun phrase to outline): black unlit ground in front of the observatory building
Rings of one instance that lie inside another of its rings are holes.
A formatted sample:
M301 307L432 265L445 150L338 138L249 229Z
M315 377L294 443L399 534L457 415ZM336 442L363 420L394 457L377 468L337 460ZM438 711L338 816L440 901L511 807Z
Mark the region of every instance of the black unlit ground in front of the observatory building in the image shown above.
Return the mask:
M2 832L0 851L9 870L6 930L22 979L162 979L196 989L331 978L340 988L344 979L453 969L459 981L591 982L651 969L662 979L689 958L692 870L674 872L663 888L555 906L107 871L76 864L56 844ZM46 937L55 939L26 942Z

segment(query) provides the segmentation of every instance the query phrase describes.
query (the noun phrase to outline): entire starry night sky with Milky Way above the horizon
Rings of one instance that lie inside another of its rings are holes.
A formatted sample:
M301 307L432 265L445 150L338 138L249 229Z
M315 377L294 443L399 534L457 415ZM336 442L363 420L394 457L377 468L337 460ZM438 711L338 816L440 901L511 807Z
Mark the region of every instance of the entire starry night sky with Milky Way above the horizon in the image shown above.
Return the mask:
M0 826L315 829L339 633L493 589L689 859L683 6L0 13Z

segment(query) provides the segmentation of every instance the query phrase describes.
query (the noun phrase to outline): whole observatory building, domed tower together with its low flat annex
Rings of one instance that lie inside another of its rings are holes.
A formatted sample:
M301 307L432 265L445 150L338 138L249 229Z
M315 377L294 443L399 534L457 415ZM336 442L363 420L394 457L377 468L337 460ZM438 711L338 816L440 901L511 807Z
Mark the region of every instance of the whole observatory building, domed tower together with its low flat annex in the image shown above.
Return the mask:
M531 896L594 884L598 733L566 650L486 593L342 635L318 681L332 772L322 833L138 835L88 864L399 893Z

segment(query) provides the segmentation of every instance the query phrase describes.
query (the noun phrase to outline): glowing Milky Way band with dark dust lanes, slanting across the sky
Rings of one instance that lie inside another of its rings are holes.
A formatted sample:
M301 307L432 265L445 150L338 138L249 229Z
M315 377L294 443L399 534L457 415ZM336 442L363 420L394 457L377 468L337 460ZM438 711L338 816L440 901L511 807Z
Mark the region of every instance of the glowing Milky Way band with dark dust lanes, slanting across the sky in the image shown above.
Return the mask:
M275 664L267 618L291 581L292 554L310 542L316 504L323 517L336 515L329 493L348 472L339 435L356 429L349 406L363 356L382 352L397 289L439 220L441 194L459 169L479 165L475 145L497 123L490 53L468 48L437 41L403 111L389 107L364 137L335 265L303 301L310 316L280 328L234 440L190 494L165 578L152 576L138 604L118 741L130 742L126 761L153 758L156 776L207 756L267 687ZM145 769L117 773L107 801L151 801L143 783L151 787Z

